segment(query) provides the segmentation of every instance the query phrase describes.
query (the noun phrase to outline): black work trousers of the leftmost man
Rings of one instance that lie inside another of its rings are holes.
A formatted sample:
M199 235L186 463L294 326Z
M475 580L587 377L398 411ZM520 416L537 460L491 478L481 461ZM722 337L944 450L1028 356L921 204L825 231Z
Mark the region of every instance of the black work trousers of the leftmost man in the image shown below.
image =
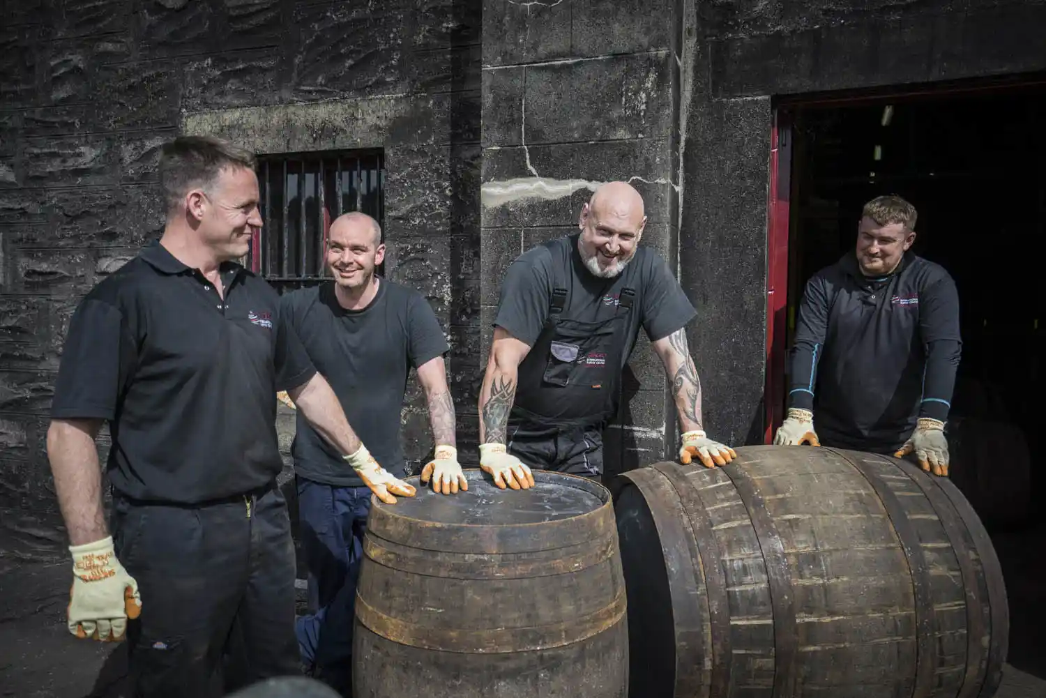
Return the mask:
M137 698L222 695L230 637L243 682L300 674L294 543L275 485L203 506L116 495L112 519L117 558L141 593L141 616L128 627Z

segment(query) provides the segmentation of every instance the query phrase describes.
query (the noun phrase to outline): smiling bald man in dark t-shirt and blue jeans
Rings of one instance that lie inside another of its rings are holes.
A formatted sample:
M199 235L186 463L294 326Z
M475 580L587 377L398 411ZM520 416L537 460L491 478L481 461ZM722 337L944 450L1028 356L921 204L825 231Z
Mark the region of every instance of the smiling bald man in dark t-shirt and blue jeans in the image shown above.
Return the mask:
M417 370L435 442L422 480L442 494L467 489L457 461L454 402L444 355L450 350L429 302L376 273L385 258L378 222L360 212L331 225L325 250L332 280L282 297L286 317L371 454L394 477L405 475L400 412L407 376ZM353 612L363 557L370 490L308 422L297 420L291 447L299 530L314 615L297 621L302 662L350 694Z

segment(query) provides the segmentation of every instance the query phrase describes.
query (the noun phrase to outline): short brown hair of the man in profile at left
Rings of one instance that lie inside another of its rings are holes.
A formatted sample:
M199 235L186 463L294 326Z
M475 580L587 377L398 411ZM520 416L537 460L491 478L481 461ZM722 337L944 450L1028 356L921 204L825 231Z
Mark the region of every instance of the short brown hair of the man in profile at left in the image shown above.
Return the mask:
M160 187L167 210L177 208L192 188L206 188L223 170L254 170L257 158L237 145L212 136L180 136L163 144Z

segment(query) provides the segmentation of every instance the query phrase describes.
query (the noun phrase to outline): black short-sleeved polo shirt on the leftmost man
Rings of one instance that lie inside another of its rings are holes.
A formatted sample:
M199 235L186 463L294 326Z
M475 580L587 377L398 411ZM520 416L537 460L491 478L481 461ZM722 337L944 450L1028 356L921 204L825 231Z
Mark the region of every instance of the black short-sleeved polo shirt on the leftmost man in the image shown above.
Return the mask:
M109 421L109 477L127 497L205 503L282 468L276 391L316 370L272 287L237 264L220 272L224 299L154 242L73 315L51 416Z

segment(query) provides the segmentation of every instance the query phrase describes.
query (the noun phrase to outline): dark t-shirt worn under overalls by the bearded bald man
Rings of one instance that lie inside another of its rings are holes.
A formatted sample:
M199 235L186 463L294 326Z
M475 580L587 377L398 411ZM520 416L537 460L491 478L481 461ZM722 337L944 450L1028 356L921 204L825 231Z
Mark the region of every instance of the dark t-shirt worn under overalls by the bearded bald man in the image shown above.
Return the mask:
M563 317L583 322L613 316L621 290L632 289L639 312L629 314L628 344L621 352L623 368L640 327L651 341L657 341L683 328L697 314L668 265L655 250L640 246L620 274L599 278L586 269L577 251L577 234L566 235L553 243L569 246L569 256L539 245L513 262L501 286L495 325L532 346L548 318L553 289L567 290ZM566 258L570 260L568 268L561 262Z

